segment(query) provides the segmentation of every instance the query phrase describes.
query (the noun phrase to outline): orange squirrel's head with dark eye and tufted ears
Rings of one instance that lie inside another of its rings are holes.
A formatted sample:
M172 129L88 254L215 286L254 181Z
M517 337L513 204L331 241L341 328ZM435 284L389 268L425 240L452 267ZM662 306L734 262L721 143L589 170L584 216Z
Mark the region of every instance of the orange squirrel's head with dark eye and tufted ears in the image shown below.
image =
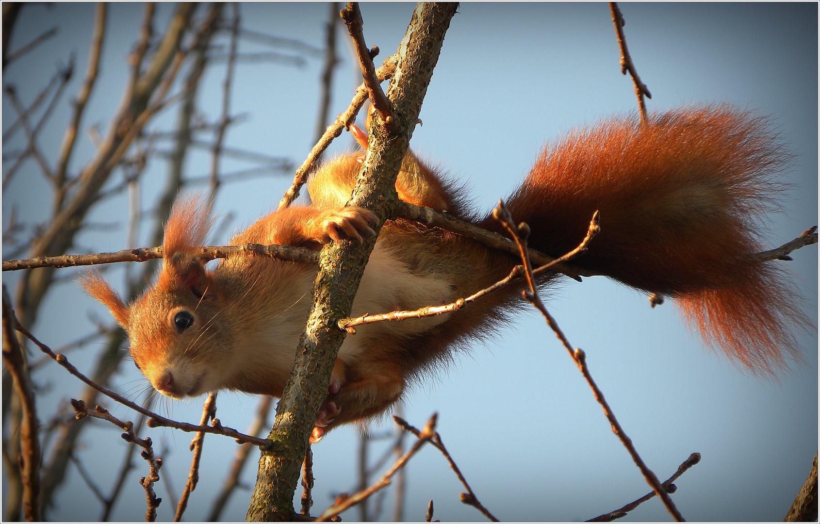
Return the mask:
M97 273L80 280L128 333L134 364L173 399L221 387L216 375L224 370L216 361L229 346L231 327L223 290L197 256L208 226L200 199L177 202L166 226L157 283L129 305Z

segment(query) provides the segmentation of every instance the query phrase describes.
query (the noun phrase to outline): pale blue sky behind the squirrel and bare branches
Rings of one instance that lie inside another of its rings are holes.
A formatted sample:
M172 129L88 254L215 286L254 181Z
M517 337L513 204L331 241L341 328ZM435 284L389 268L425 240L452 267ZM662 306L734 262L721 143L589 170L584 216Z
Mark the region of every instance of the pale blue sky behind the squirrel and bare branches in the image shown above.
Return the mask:
M729 102L772 115L795 161L783 180L790 184L782 212L771 217L764 236L772 247L794 238L818 222L818 6L815 3L625 3L626 39L642 80L653 98L650 110L690 103ZM171 4L158 6L157 28L164 27ZM377 62L399 43L412 3L364 3L362 16L368 45L381 48ZM101 79L91 98L84 126L104 130L121 97L127 74L125 57L136 39L142 6L112 4ZM13 34L17 48L52 25L57 36L7 67L4 84L16 84L24 103L47 81L57 62L76 52L78 72L66 93L79 89L89 47L93 4L54 3L26 6ZM323 41L325 3L243 4L243 25L316 47ZM227 39L223 34L220 43ZM344 43L344 63L336 76L331 113L347 107L358 84ZM263 50L242 42L240 50ZM476 205L489 209L506 196L531 166L545 141L573 126L613 114L635 112L630 80L618 66L617 43L605 3L465 3L453 18L440 61L421 108L424 125L411 147L440 162L453 176L467 180ZM231 99L232 112L250 113L230 128L226 144L303 161L312 147L321 60L308 58L303 68L240 64ZM221 108L224 66L207 74L199 100L209 120ZM13 109L3 99L3 129ZM50 162L56 157L69 107L64 100L43 132L40 145ZM175 112L166 112L153 129L169 129ZM210 139L207 134L203 139ZM337 143L348 147L343 134ZM4 150L21 147L21 139ZM167 146L163 145L163 148ZM72 169L92 152L82 134ZM207 172L207 155L192 156L188 175ZM225 171L246 166L225 160ZM141 192L143 206L153 205L162 189L166 162L148 166ZM112 180L120 180L117 173ZM226 185L216 212L235 214L241 228L275 207L290 175ZM3 220L11 203L23 219L34 220L50 206L48 187L34 162L16 175L2 198ZM123 223L125 196L98 207L94 221ZM148 224L141 231L145 243ZM224 238L219 239L225 241ZM76 251L125 248L122 229L81 235ZM794 253L788 263L804 293L805 311L817 321L817 247ZM73 270L66 270L73 271ZM122 271L110 271L116 286ZM3 275L7 284L14 276ZM58 285L44 306L34 334L52 347L93 328L93 312L108 313L84 297L72 282ZM70 308L66 308L66 303ZM686 330L675 306L650 309L644 295L602 277L564 283L547 303L572 344L585 349L590 369L622 426L649 467L665 479L690 453L702 462L677 482L674 499L693 521L781 520L808 475L818 440L818 341L801 335L806 363L775 380L759 380L736 369L725 358L704 349ZM71 354L71 362L89 371L98 346ZM34 376L51 390L39 398L42 419L80 384L56 366ZM134 391L143 382L127 364L114 377L118 390ZM256 400L244 394L221 394L218 417L240 431L253 417ZM198 420L201 402L162 403L162 412ZM431 376L408 395L405 414L420 426L431 412L440 413L439 431L482 503L502 520L585 520L637 499L649 488L626 450L609 429L599 406L566 351L544 321L526 314L490 344L462 354L448 372ZM117 417L134 418L125 408ZM389 427L389 426L385 426ZM180 493L189 467L190 435L153 430L155 449L167 447L163 482L171 479ZM95 425L83 440L80 456L99 485L107 486L119 467L125 444L113 427ZM212 494L225 476L235 444L208 436L202 480L186 512L187 520L207 516ZM314 510L332 502L331 493L355 485L355 430L339 429L314 449ZM380 448L372 456L380 454ZM116 520L141 520L144 494L137 484L146 467L138 463L133 480L116 507ZM244 482L253 485L255 460ZM426 503L435 500L435 517L482 520L458 502L462 491L444 459L425 449L410 462L405 517L421 520ZM175 503L165 488L160 520L170 520ZM237 491L225 519L243 520L250 492ZM77 503L82 500L83 503ZM48 513L60 520L98 517L98 503L72 470ZM358 513L344 515L355 520ZM385 512L385 517L389 510ZM667 520L651 501L627 517Z

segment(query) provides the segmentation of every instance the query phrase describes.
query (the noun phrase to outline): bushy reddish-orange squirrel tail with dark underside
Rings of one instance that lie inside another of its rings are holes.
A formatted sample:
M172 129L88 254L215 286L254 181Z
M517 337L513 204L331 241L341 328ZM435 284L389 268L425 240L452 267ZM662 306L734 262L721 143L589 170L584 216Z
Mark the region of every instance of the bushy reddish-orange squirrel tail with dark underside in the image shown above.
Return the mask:
M791 327L810 326L781 268L749 256L789 157L770 121L725 105L604 121L545 148L508 207L553 256L599 210L601 233L572 263L677 298L709 344L765 374L799 358Z

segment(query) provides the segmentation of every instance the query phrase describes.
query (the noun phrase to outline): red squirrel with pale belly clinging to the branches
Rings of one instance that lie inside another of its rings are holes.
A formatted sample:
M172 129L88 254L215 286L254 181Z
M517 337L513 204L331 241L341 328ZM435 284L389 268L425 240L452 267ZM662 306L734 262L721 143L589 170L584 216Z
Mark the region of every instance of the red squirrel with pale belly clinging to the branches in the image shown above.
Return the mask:
M366 136L353 127L364 147ZM755 262L758 219L789 159L770 122L717 105L615 118L544 148L507 207L531 227L531 247L558 257L584 238L599 211L601 231L576 267L674 298L707 344L756 373L800 359L792 328L810 322L776 262ZM372 233L377 217L345 207L362 153L321 166L308 182L311 204L261 218L230 244L319 249ZM399 198L503 233L467 207L463 192L412 152L396 181ZM195 256L209 226L195 199L177 202L166 226L157 283L126 306L99 276L85 289L107 305L130 337L134 363L174 399L210 390L280 397L311 308L317 267L269 257L229 257L208 271ZM507 276L520 263L475 240L417 223L388 221L380 232L352 316L450 303ZM541 284L556 274L541 277ZM385 412L408 381L487 335L522 307L508 286L436 317L357 328L339 350L314 437Z

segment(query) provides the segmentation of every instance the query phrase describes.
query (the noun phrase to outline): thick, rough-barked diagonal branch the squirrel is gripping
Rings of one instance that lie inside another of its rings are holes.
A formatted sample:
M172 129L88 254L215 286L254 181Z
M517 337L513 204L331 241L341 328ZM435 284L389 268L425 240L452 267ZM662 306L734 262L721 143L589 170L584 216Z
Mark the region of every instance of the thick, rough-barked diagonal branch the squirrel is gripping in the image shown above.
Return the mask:
M367 157L349 205L366 207L385 218L395 216L395 190L421 102L438 61L444 34L457 3L419 3L399 44L399 65L387 93L396 115L390 131L374 116ZM380 221L376 234L380 230ZM376 236L361 244L342 241L321 251L319 274L314 284L313 308L296 352L285 393L276 408L276 423L269 439L278 440L276 451L262 452L257 484L253 490L248 521L287 521L294 516L293 499L307 440L321 402L327 395L330 371L345 332L336 326L348 317Z

